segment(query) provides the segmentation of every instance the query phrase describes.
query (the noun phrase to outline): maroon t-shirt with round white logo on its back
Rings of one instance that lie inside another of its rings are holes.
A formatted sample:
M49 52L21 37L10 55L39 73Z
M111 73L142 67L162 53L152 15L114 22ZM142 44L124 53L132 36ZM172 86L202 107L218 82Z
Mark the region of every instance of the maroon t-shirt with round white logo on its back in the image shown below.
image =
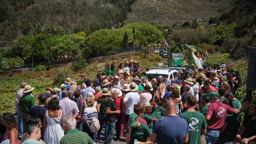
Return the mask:
M211 115L211 119L207 121L207 129L221 129L224 125L226 114L232 113L234 113L234 109L221 101L211 103L206 113L206 115Z

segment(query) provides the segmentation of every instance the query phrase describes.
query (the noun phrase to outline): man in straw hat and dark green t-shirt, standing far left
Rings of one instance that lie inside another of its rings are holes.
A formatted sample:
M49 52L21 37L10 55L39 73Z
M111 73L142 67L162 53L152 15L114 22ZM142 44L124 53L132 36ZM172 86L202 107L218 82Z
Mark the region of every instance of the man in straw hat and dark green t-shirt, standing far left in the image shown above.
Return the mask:
M23 134L27 132L28 130L28 116L29 116L29 111L31 107L35 106L35 98L33 95L31 95L32 90L35 89L31 87L30 85L26 85L25 88L22 90L23 93L25 93L19 100L19 114L22 117L23 121Z

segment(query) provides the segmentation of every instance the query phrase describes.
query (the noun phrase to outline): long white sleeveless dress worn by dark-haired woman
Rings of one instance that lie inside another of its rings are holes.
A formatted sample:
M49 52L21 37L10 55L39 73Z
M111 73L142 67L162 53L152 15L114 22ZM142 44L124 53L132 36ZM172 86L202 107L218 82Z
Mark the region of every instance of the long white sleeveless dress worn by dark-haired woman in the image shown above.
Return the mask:
M61 113L61 110L59 110L59 113ZM44 139L45 144L60 143L61 138L64 136L63 128L60 125L61 114L57 118L51 118L48 116L48 110L47 110L46 111L46 120L47 120L47 126L45 129L45 139Z

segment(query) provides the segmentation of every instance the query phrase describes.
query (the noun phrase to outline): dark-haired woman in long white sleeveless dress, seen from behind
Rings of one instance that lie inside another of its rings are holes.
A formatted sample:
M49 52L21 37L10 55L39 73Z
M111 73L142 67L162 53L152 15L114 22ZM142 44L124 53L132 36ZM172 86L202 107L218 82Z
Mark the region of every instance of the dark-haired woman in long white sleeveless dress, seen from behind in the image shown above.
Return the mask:
M59 99L54 97L48 104L48 110L44 114L44 142L45 144L60 143L64 136L63 127L61 126L64 118L63 111L60 110Z

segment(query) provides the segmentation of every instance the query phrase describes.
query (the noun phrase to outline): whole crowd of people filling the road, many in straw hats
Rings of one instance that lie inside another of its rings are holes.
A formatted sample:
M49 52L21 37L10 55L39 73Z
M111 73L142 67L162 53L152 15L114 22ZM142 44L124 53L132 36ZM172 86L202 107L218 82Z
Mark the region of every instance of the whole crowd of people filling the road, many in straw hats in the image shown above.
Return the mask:
M134 60L118 66L113 61L93 83L84 77L79 88L67 78L59 88L46 88L38 105L34 88L22 82L18 121L12 113L3 114L7 129L1 142L18 144L22 137L22 144L93 144L103 130L105 144L255 144L256 103L242 108L234 95L242 84L239 71L225 64L203 67L179 70L171 79L146 75ZM239 130L240 113L247 109Z

